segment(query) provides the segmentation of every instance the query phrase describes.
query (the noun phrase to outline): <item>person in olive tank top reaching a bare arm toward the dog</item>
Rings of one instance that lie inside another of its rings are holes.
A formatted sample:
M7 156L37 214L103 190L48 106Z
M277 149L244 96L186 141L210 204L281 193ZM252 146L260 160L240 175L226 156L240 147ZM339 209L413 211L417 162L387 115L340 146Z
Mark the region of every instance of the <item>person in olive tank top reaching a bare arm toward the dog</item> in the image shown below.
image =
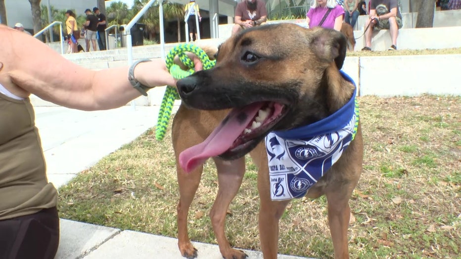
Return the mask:
M59 244L58 192L46 178L29 96L72 109L108 110L152 87L176 87L176 80L161 58L94 71L5 25L0 35L0 258L53 259ZM203 68L197 56L189 57L196 71Z

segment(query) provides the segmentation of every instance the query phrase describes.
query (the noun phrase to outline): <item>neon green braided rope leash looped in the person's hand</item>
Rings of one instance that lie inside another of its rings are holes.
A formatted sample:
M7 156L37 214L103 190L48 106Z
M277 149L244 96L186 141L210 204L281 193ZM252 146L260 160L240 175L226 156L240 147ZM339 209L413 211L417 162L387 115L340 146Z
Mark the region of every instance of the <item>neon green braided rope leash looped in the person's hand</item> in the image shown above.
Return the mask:
M194 62L187 56L185 52L191 52L195 54L202 62L204 70L210 69L216 65L216 60L210 60L206 52L200 47L192 43L182 43L170 50L165 60L167 69L174 79L179 80L195 72ZM175 56L179 57L181 62L188 68L188 70L183 70L179 65L174 63ZM165 137L166 129L171 118L171 112L173 110L173 104L175 100L179 99L180 96L176 87L167 86L165 94L163 95L162 104L160 105L157 126L155 127L155 138L157 140L163 140Z

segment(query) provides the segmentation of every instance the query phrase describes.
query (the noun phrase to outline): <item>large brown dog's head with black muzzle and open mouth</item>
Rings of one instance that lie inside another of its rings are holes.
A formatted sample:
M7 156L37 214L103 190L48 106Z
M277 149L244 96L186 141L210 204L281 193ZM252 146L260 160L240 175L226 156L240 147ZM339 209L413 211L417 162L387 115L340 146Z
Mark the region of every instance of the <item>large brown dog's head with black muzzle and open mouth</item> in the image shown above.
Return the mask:
M234 108L220 126L228 135L240 130L220 154L233 159L269 131L313 123L337 110L329 101L337 91L329 82L336 78L326 71L339 75L345 54L346 40L333 30L258 26L221 44L216 66L178 81L178 92L192 108Z

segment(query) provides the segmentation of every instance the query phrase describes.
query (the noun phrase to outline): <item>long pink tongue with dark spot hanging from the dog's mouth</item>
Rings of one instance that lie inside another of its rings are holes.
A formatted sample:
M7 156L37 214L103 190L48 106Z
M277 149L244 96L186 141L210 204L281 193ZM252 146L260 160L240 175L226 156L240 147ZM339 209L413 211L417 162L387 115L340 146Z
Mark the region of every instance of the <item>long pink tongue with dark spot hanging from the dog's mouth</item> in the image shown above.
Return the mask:
M233 109L207 139L181 152L179 155L181 168L189 173L208 158L227 151L253 120L262 105L263 103L254 103L241 109Z

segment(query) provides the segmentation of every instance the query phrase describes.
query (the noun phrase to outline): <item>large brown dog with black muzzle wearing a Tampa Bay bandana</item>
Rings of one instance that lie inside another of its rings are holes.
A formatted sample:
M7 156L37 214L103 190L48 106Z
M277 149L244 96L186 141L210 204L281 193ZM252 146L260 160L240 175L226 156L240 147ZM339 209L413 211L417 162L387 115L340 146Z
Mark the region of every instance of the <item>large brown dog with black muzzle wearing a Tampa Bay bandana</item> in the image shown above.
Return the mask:
M308 30L294 24L261 26L245 30L223 43L216 54L214 68L178 81L178 92L183 102L173 122L172 136L180 186L178 245L184 257L197 256L197 250L187 235L187 214L200 182L202 163L212 157L218 170L219 190L210 217L220 252L227 259L246 258L242 251L231 248L224 233L224 224L228 206L240 187L245 171L244 155L250 152L259 168L262 252L265 259L277 258L278 220L289 203L285 198L296 195L288 195L280 187L283 187L283 177L277 178L276 175L274 178L273 173L285 167L277 164L268 166L277 159L283 162L284 157L281 152L276 152L281 145L274 141L274 135L269 137L273 134L270 131L275 130L280 135L295 132L298 137L299 133L305 133L300 130L303 127L314 126L315 129L316 125L343 111L344 107L351 107L355 86L338 70L342 67L345 52L344 36L333 30ZM231 108L234 109L230 113L225 110ZM350 111L350 108L346 110ZM347 121L349 119L348 115ZM347 127L351 126L351 122L346 122ZM304 160L320 158L323 154L320 147L327 149L339 142L344 147L348 146L334 152L342 152L342 155L334 158L336 163L318 181L299 179L287 184L297 191L310 185L307 196L311 198L326 195L335 258L349 257L349 198L359 180L363 160L359 124L355 130L355 138L343 134L345 131L333 130L337 134L325 133L325 136L331 137L325 138L323 144L296 150L293 154ZM349 140L338 142L334 137L340 135L346 139L349 137ZM312 141L317 140L312 138ZM298 140L287 141L294 143ZM322 162L322 167L324 164L326 162ZM294 171L299 167L287 169ZM284 187L287 188L287 185ZM271 195L285 200L272 200Z

